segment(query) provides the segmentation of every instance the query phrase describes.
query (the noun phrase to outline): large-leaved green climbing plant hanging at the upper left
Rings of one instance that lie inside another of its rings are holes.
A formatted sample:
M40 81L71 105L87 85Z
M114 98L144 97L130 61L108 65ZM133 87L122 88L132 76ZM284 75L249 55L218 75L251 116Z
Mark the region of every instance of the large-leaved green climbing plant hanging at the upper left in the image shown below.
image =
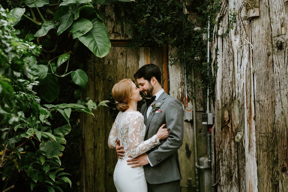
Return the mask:
M85 88L88 83L86 73L82 69L69 71L70 55L75 53L79 42L87 46L97 57L104 57L108 54L111 43L103 21L104 15L95 7L97 4L116 2L116 0L59 0L58 3L50 4L50 1L53 0L20 1L20 7L12 9L8 16L13 26L17 25L21 18L26 18L36 24L38 29L34 33L31 30L27 33L25 26L24 30L21 29L21 33L23 33L21 35L25 35L25 39L28 41L33 41L36 38L38 45L42 45L44 52L55 55L49 61L41 60L41 64L37 61L38 58L30 56L24 58L26 64L31 65L32 74L38 77L39 96L47 102L52 102L58 97L59 81L65 76L70 75L76 85ZM44 10L46 10L45 14L43 14ZM35 11L37 11L41 21L36 18ZM67 37L70 38L70 34L73 36L70 40L70 46L66 46L64 51L59 50L59 41ZM54 37L57 40L53 43ZM54 49L44 49L47 44L48 47L54 44ZM66 69L64 73L59 74L62 64L66 65Z

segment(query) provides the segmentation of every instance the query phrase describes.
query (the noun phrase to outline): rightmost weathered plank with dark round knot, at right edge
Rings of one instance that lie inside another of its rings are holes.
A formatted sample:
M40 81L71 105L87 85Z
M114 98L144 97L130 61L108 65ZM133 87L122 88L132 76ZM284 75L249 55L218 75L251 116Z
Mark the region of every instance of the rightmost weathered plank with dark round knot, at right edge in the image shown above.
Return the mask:
M270 2L270 1L269 1ZM272 75L274 76L274 83L269 82L270 85L274 84L274 96L275 96L275 119L274 122L270 122L271 137L270 145L268 144L268 150L272 150L274 155L271 158L271 164L273 167L273 173L277 173L277 177L273 177L271 183L274 187L279 187L279 191L287 191L288 189L288 76L287 76L287 38L288 33L286 31L288 26L287 12L288 5L282 1L270 2L270 17L271 17L271 36L272 38L272 55L269 59L272 59L272 66L269 66L270 73L273 68ZM270 68L271 67L271 68ZM268 69L267 69L268 70ZM267 74L267 72L265 73ZM270 75L268 76L270 77ZM269 79L272 81L272 79ZM268 86L270 86L268 84ZM268 95L267 95L268 96ZM270 97L273 97L271 95ZM274 98L269 98L268 101ZM265 100L264 100L265 101ZM264 102L265 104L266 101ZM266 113L267 114L267 113ZM268 122L267 122L268 124ZM272 124L272 125L271 125ZM269 125L269 124L268 124ZM276 168L277 165L277 168ZM275 176L275 174L273 174Z

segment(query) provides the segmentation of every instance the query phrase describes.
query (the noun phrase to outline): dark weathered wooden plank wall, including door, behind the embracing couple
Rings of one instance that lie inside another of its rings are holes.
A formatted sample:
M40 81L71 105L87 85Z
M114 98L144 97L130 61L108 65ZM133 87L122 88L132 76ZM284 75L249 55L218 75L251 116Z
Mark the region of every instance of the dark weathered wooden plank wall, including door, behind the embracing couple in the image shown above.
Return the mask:
M105 7L106 26L112 41L112 47L107 56L97 58L90 55L85 61L85 71L88 75L88 85L84 95L93 101L107 100L113 85L123 78L134 80L133 74L144 64L154 63L162 72L162 87L175 98L178 98L184 107L185 86L184 66L180 64L170 65L168 55L174 52L169 47L140 47L127 48L125 42L131 38L128 34L129 26L116 18L115 4ZM118 12L121 10L118 10ZM123 46L124 45L124 46ZM201 81L196 73L197 79ZM201 123L203 109L203 93L196 87L196 119L197 119L197 147L198 157L207 154L207 126ZM189 92L191 98L191 92ZM189 107L191 107L191 101ZM100 107L94 112L95 118L84 115L83 122L83 185L84 191L116 192L113 183L113 171L116 165L116 152L107 145L108 135L115 117L107 107ZM193 125L184 121L184 142L179 149L182 181L181 185L188 184L187 178L192 178L195 185L195 159L193 142ZM201 190L201 189L200 189ZM193 188L182 188L182 192L195 191Z

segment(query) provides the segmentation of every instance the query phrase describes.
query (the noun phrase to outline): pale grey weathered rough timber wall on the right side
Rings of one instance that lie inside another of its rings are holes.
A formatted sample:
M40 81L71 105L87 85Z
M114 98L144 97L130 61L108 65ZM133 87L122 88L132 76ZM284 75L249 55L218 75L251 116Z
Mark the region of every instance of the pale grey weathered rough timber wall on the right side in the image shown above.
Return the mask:
M259 1L247 20L229 0L214 36L215 187L217 191L288 191L287 3ZM229 11L239 12L233 29Z

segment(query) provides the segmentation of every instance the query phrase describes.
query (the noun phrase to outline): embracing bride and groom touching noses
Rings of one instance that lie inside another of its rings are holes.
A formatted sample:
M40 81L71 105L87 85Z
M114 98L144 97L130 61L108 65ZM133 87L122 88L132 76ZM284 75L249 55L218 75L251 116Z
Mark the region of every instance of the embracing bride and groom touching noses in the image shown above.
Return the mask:
M139 88L122 79L112 97L120 111L109 134L108 145L119 156L113 180L118 192L180 192L177 150L183 143L183 107L161 87L161 71L155 64L135 74ZM146 100L140 112L137 102Z

